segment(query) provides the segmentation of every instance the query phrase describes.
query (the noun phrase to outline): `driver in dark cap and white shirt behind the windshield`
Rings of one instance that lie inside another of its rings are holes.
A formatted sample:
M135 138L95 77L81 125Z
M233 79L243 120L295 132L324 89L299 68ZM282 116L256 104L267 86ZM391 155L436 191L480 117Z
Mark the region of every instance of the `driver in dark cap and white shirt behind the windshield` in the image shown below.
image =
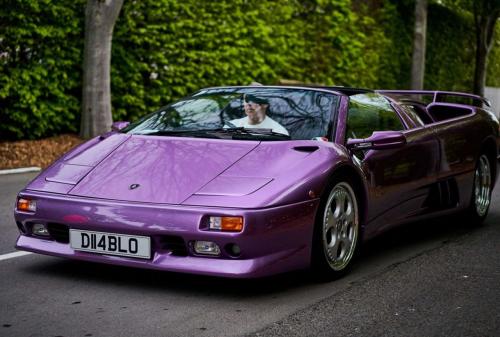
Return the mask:
M274 132L288 135L288 131L281 124L267 116L269 107L267 99L245 94L243 100L246 117L233 119L232 125L244 128L271 129Z

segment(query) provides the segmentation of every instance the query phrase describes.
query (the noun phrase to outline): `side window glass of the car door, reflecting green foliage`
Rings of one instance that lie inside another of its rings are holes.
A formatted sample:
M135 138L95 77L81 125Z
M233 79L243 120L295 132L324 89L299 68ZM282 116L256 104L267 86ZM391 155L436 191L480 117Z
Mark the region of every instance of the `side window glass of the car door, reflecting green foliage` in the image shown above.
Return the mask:
M399 131L403 124L390 102L375 93L349 97L346 138L368 138L374 131Z

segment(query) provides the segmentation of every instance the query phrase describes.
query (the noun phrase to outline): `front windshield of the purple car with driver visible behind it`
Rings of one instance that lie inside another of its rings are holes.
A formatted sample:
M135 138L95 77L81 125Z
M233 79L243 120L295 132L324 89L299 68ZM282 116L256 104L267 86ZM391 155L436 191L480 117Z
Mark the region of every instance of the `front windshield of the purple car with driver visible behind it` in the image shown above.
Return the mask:
M204 89L142 118L123 132L223 139L329 138L337 102L334 94L309 89Z

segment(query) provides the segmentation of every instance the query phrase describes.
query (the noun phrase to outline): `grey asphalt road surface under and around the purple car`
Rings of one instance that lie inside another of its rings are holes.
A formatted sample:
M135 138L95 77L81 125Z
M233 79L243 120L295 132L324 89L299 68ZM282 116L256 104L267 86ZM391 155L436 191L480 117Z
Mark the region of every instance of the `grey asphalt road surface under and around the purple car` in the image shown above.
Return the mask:
M500 188L479 228L414 223L369 242L352 273L235 281L14 251L0 176L0 336L500 336Z

